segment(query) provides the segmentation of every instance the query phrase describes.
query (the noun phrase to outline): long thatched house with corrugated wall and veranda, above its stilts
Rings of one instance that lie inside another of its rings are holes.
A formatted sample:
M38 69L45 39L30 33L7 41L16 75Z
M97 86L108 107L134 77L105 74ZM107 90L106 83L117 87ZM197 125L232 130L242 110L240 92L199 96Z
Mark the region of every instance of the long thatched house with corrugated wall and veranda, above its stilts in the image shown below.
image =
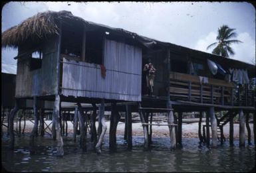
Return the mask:
M23 21L3 32L2 45L19 50L17 98L140 102L132 107L137 112L142 107L163 111L168 101L178 112L255 111L255 92L249 88L255 66L84 21L68 11ZM143 73L149 58L156 68L153 95L146 95Z

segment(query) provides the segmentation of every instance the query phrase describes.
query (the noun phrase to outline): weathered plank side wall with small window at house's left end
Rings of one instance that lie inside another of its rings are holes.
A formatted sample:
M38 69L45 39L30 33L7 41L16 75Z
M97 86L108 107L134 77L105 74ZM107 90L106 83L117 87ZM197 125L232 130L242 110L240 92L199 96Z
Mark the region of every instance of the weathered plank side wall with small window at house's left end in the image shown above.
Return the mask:
M42 67L37 70L30 70L28 55L18 59L15 97L33 97L57 93L57 46L57 36L43 45ZM29 52L29 50L22 48L19 49L19 54L21 52Z

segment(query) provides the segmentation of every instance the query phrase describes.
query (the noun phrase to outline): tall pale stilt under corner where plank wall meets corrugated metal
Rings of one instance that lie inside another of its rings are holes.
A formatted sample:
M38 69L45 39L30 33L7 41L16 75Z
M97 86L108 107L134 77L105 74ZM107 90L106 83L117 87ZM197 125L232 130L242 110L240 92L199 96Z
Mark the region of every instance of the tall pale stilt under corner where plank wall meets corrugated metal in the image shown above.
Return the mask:
M61 113L61 97L60 95L56 95L55 97L55 109L54 109L54 117L56 121L55 131L56 131L56 139L57 139L57 156L63 156L63 138L61 137L61 126L60 126L60 113Z

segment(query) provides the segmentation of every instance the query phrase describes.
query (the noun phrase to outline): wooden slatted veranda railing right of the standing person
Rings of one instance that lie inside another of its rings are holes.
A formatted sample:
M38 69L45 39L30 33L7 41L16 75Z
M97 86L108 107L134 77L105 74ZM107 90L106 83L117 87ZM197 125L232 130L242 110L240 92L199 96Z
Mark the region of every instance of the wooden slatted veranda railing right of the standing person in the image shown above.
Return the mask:
M254 106L254 95L245 89L244 93L237 93L233 83L224 80L207 78L207 82L200 82L199 76L171 72L170 97L173 100L185 100L197 103L217 105L245 105Z

